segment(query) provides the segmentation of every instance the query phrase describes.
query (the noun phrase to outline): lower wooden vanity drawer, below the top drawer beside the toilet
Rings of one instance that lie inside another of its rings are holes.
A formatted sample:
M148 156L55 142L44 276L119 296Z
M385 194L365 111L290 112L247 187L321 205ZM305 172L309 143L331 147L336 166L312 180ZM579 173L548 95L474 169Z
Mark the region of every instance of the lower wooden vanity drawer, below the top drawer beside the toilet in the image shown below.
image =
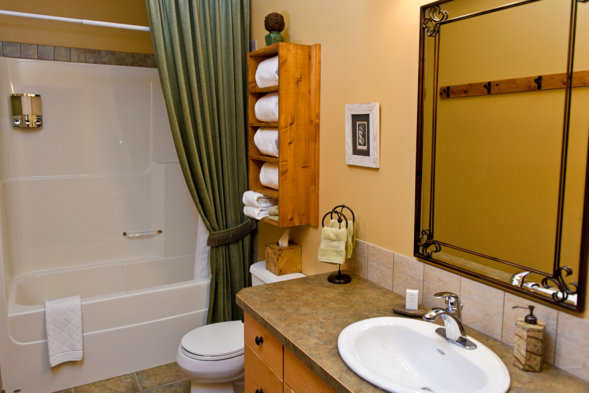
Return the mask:
M249 346L244 345L245 351L245 391L254 393L257 389L264 393L283 393L282 379L270 369L270 367L256 355L256 352Z

